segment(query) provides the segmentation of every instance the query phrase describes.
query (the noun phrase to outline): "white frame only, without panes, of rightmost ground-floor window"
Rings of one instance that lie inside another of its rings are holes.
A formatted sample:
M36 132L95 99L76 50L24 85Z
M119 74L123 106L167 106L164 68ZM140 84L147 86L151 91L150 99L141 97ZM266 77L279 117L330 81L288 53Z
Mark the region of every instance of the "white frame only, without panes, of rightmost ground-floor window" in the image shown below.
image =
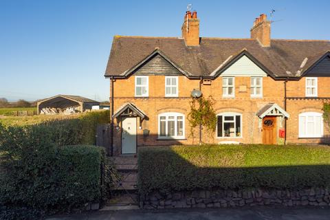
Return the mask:
M303 129L305 130L305 134L303 134L303 131L302 131L302 120L301 118L302 117L305 117L305 125L303 127ZM319 134L316 134L316 133L313 133L313 134L308 134L307 131L307 124L308 124L308 117L313 117L313 122L314 122L314 131L316 131L316 120L315 118L316 117L320 117L321 120L320 120L320 133ZM314 111L308 111L308 112L304 112L304 113L300 113L298 115L298 137L323 137L323 115L322 113L319 113L319 112L314 112Z

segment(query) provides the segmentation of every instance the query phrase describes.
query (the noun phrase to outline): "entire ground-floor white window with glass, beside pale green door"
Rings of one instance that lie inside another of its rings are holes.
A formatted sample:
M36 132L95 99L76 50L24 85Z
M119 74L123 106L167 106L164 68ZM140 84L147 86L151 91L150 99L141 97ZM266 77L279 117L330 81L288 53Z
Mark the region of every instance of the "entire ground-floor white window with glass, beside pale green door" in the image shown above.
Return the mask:
M184 139L184 114L167 112L158 115L159 139Z

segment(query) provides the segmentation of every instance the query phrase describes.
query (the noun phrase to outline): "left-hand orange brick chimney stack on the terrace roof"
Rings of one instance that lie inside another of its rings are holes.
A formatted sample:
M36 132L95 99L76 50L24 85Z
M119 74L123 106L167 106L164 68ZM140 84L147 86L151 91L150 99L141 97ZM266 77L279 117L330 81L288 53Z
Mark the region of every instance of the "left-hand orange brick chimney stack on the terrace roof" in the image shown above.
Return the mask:
M196 11L186 12L181 31L187 46L199 45L199 19L197 19Z

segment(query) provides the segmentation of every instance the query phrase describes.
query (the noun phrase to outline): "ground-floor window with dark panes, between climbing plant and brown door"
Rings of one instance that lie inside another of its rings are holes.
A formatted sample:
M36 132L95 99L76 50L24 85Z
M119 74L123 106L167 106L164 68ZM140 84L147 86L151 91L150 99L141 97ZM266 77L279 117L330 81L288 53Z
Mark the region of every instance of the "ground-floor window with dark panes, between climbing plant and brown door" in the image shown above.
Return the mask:
M242 137L242 115L239 113L217 115L217 137Z

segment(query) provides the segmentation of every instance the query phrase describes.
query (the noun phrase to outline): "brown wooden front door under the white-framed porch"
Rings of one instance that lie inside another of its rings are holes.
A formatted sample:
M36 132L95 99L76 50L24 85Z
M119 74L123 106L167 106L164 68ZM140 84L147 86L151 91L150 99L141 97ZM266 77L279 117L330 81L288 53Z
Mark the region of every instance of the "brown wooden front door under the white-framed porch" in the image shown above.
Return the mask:
M265 116L263 118L263 144L276 143L276 117Z

